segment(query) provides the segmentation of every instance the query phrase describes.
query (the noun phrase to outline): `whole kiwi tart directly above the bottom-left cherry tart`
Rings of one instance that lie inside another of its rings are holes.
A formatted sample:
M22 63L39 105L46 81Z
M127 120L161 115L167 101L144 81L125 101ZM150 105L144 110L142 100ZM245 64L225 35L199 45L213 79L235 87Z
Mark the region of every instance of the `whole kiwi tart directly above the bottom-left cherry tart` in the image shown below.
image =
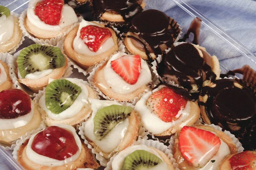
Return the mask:
M52 80L44 92L38 94L38 105L47 126L77 125L92 113L88 98L97 98L92 88L73 78Z

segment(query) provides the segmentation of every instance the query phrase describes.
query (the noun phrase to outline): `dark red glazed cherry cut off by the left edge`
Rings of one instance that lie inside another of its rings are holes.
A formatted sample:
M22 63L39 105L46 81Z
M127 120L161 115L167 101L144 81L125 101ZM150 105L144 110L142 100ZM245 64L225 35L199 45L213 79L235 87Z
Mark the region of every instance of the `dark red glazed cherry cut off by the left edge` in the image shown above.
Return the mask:
M14 119L31 111L29 95L19 89L0 92L0 119Z

